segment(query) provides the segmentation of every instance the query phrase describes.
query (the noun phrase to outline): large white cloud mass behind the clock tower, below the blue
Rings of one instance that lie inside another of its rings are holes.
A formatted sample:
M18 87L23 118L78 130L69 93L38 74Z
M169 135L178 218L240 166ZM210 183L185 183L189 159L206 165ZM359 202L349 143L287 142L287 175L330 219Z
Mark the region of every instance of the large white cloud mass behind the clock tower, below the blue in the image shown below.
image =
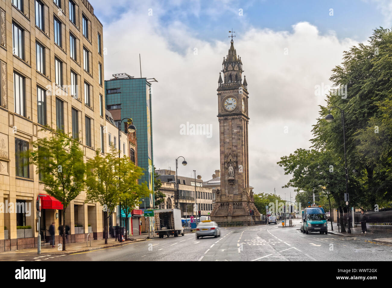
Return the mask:
M180 165L179 174L191 176L196 170L204 181L211 179L220 168L216 89L230 42L200 40L180 21L164 26L158 17L147 15L147 7L134 7L104 26L105 79L120 72L139 77L141 53L143 77L159 81L152 88L156 168L174 170L175 159L184 156L188 165ZM160 9L164 8L154 8L154 14ZM250 185L256 193L273 193L274 187L282 197L290 192L280 188L289 178L276 162L299 147L309 147L311 125L324 99L314 96L314 86L329 83L331 69L355 44L339 40L333 32L321 35L307 22L293 25L292 31L249 27L235 39L250 92ZM187 121L212 124L212 138L180 135L180 124Z

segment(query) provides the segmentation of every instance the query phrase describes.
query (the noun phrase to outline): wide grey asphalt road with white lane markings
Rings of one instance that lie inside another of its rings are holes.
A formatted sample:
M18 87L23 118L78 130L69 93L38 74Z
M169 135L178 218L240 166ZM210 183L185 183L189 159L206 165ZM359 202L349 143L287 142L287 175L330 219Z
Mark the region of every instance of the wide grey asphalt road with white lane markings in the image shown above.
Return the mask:
M370 242L379 237L303 234L281 225L221 228L221 237L155 238L70 255L29 256L25 261L392 261L392 246Z

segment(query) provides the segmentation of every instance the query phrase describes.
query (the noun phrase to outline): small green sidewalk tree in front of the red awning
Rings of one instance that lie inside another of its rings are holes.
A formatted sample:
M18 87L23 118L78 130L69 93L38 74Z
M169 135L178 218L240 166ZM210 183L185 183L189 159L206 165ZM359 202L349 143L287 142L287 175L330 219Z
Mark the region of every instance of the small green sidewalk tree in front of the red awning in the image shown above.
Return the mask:
M63 247L65 251L65 211L85 187L86 166L80 144L61 131L50 129L49 138L33 143L31 158L44 183L44 191L63 205Z

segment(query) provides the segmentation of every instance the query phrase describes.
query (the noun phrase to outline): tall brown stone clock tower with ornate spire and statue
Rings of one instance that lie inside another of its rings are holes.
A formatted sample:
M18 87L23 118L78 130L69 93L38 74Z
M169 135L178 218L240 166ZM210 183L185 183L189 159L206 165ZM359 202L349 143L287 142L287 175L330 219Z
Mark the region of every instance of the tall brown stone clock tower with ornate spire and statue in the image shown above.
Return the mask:
M253 191L249 188L248 85L245 76L242 77L242 61L234 49L233 39L230 43L229 53L223 57L217 89L221 187L216 190L211 219L260 221ZM252 216L250 210L254 211Z

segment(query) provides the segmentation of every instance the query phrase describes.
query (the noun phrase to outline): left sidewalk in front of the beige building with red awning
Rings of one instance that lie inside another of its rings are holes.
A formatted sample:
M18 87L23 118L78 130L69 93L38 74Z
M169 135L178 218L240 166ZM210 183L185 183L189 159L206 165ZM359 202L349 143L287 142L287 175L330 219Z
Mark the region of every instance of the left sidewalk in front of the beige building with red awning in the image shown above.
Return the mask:
M89 241L88 247L85 241L76 242L76 243L67 243L66 251L62 251L61 249L58 250L60 246L58 246L59 243L56 243L54 245L54 248L52 248L52 246L50 245L42 246L40 255L57 255L57 254L65 255L65 254L80 253L80 252L91 251L91 250L98 250L102 248L110 248L110 247L145 241L147 240L147 237L148 237L148 233L142 233L142 235L131 236L130 239L133 240L123 241L122 243L115 241L115 238L109 238L107 239L107 244L105 244L105 239L91 240L91 246ZM33 255L38 255L37 247L0 252L0 261L10 260L10 259L17 261L18 260L17 257L33 256Z

